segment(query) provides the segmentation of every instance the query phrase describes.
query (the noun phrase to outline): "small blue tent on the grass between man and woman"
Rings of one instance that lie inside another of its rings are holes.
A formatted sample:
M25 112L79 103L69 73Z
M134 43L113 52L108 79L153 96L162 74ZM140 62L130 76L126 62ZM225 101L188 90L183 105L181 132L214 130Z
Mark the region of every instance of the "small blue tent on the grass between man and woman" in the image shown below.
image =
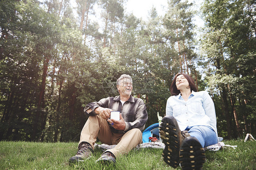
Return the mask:
M154 123L153 125L148 126L142 133L142 143L149 142L148 137L156 137L159 139L159 123Z

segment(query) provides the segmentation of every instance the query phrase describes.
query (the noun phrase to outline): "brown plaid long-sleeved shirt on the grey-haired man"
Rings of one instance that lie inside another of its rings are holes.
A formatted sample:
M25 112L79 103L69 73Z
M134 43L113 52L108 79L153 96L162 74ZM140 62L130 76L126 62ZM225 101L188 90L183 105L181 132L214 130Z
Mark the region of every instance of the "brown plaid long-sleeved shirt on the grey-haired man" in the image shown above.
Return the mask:
M139 130L143 131L145 123L148 120L146 105L141 98L135 98L131 96L128 101L123 104L123 106L120 101L120 96L102 98L99 102L91 102L87 104L87 106L84 108L84 112L90 108L92 109L92 112L89 114L87 112L86 113L89 116L95 116L96 114L94 109L99 106L110 108L113 111L119 111L122 113L122 117L125 121L125 130L118 131L110 125L111 131L113 131L113 133L123 133L133 128L138 128Z

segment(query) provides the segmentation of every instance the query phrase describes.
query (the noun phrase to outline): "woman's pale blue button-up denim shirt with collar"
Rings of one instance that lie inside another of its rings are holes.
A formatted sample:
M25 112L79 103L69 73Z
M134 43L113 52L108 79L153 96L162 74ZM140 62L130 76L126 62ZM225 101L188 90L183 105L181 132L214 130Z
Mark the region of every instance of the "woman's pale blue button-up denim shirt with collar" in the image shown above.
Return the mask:
M184 101L180 93L169 97L166 115L175 117L181 131L187 127L210 126L218 136L214 102L206 91L192 91L187 101Z

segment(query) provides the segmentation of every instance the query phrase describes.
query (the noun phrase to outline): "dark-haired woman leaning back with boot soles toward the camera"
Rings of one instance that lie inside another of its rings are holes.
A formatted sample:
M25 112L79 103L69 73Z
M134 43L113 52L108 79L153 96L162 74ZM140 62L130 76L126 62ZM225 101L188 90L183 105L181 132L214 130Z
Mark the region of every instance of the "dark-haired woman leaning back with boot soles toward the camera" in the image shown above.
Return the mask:
M160 126L164 161L174 168L180 163L182 169L201 169L203 147L217 143L214 103L207 92L197 92L193 78L185 73L175 75L170 91Z

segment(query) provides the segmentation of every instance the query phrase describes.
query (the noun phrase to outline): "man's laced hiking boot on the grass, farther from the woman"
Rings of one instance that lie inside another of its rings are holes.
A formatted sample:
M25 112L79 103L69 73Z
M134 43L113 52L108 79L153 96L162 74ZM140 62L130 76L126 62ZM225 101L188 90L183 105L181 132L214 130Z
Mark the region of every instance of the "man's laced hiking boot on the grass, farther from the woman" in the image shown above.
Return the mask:
M69 164L83 162L92 154L92 146L87 142L81 142L78 146L77 155L69 159Z

